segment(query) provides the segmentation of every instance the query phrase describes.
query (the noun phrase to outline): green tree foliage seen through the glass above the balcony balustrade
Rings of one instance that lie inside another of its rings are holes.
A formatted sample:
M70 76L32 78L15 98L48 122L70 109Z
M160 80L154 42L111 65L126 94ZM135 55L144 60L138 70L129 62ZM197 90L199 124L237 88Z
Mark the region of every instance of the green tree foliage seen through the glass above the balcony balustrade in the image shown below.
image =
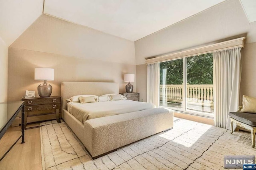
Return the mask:
M166 69L166 84L183 84L183 59L160 63L160 84ZM187 83L213 84L212 53L187 57Z

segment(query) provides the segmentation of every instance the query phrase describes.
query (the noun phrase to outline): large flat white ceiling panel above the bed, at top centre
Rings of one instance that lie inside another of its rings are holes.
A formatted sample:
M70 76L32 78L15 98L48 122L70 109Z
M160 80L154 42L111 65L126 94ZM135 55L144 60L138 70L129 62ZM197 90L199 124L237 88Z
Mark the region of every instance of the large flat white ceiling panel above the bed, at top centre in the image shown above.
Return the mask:
M45 0L44 13L136 41L225 0Z

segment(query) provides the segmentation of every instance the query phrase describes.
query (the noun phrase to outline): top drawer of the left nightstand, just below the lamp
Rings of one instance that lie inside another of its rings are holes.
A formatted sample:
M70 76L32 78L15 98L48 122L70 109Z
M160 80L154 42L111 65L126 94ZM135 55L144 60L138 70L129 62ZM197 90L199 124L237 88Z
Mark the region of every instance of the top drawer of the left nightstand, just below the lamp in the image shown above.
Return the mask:
M25 102L25 106L39 105L39 104L55 104L60 103L61 98L33 98L22 99Z

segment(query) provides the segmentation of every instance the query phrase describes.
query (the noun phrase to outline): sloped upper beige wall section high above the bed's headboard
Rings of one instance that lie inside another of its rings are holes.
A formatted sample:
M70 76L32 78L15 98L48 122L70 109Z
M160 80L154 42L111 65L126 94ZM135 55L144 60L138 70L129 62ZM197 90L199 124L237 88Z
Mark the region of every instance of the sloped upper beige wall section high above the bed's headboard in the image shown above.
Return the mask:
M45 14L10 47L135 65L133 41Z

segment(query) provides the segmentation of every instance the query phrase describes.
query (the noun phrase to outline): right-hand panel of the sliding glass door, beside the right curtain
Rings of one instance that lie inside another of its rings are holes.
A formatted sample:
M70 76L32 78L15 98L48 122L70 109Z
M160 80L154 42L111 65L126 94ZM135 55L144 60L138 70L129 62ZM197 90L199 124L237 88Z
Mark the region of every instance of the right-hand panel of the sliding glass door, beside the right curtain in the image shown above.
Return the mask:
M213 115L212 53L186 58L186 111Z

